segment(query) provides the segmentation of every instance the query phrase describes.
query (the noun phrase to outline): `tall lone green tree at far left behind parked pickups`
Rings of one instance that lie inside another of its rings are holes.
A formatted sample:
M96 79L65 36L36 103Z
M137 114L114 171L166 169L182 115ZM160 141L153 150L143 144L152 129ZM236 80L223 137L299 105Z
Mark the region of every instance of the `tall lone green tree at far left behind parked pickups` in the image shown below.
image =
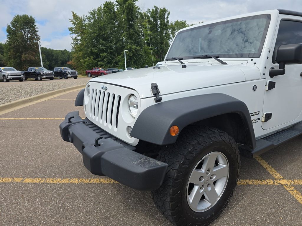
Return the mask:
M6 64L18 70L39 65L38 28L34 17L27 14L15 15L6 28Z

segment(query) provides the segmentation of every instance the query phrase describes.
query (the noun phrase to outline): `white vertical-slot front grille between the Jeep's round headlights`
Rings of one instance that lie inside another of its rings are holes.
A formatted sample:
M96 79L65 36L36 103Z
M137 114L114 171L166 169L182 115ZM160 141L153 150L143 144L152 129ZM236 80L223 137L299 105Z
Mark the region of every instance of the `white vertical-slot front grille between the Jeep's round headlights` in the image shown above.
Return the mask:
M106 125L117 128L120 95L104 90L92 89L90 98L92 98L91 114L95 121L99 123L105 122Z

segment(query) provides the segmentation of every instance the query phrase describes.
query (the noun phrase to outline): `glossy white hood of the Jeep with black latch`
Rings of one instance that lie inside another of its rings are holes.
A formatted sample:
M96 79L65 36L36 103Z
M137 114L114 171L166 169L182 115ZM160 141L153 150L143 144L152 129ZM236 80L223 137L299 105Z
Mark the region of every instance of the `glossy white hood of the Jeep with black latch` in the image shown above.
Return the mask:
M157 83L160 95L182 92L192 89L200 89L211 86L219 86L230 83L246 81L244 69L251 71L251 67L240 65L223 64L181 64L160 66L160 69L153 67L137 70L124 71L102 77L93 78L91 81L98 81L135 89L141 98L153 96L151 83ZM255 67L255 73L260 73Z

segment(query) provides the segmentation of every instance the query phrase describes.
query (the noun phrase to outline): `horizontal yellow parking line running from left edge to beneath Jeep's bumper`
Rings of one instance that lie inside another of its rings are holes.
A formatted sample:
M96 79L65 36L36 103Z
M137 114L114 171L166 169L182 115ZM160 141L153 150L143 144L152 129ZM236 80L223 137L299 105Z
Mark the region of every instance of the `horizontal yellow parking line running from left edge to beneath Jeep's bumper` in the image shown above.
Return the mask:
M17 178L0 177L0 183L28 183L28 184L118 184L111 178Z

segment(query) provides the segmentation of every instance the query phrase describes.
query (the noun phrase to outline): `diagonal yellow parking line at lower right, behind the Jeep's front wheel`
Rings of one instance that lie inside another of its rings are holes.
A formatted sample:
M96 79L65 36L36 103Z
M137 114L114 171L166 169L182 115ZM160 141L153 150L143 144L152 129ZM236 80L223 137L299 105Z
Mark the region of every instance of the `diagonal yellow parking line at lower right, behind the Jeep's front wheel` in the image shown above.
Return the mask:
M279 174L271 165L265 162L260 156L255 157L255 159L262 165L273 177L275 177L276 181L278 181L283 187L295 198L300 204L302 204L302 194L297 191L293 186L289 183L289 180L284 180L284 178Z

